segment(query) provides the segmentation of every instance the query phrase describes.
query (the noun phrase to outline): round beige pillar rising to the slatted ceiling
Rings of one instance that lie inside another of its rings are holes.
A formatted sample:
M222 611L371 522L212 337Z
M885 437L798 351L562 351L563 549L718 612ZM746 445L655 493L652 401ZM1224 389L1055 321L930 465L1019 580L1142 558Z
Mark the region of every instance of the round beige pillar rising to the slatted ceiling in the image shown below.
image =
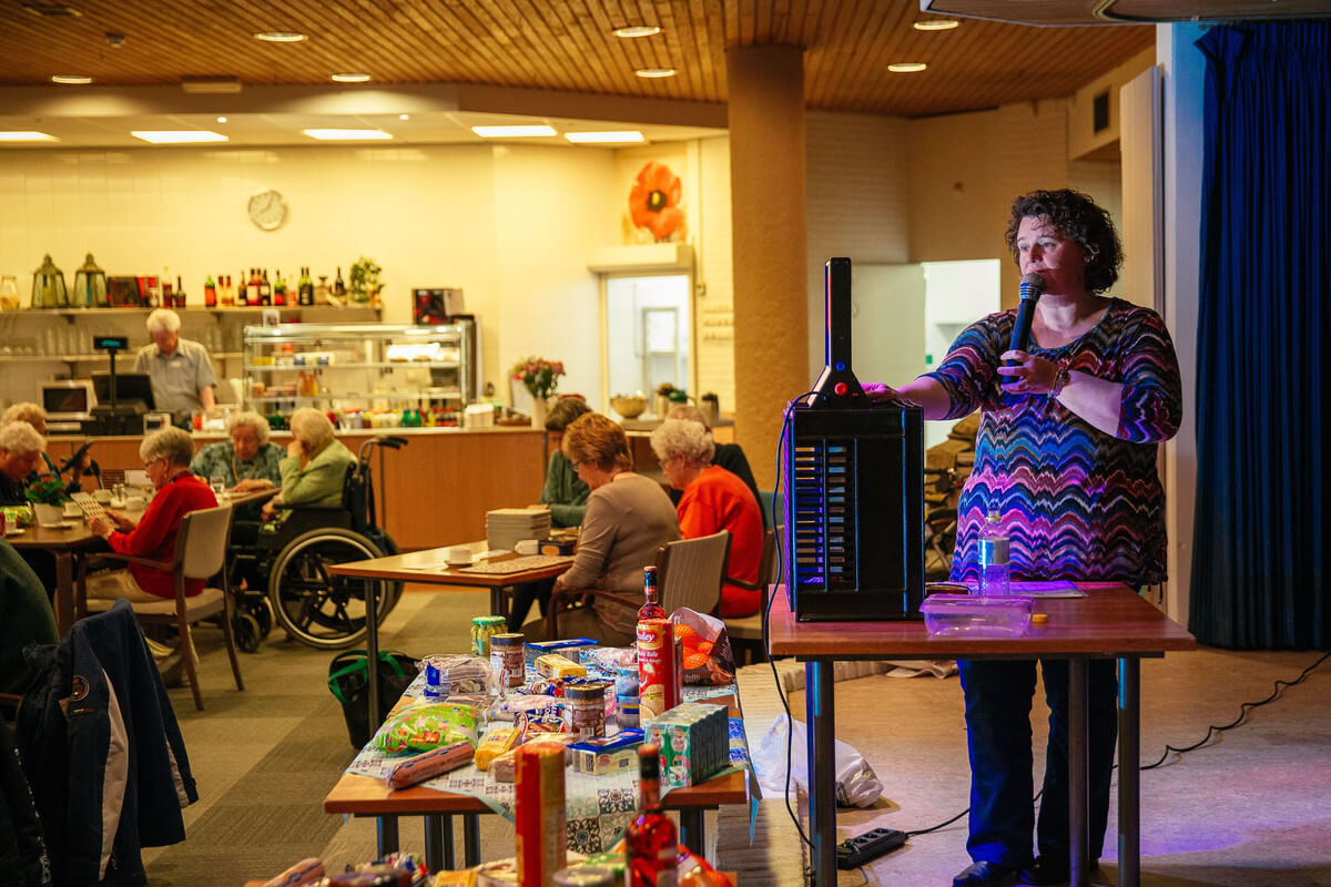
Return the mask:
M759 488L776 479L781 411L808 362L804 51L725 51L735 281L735 436Z

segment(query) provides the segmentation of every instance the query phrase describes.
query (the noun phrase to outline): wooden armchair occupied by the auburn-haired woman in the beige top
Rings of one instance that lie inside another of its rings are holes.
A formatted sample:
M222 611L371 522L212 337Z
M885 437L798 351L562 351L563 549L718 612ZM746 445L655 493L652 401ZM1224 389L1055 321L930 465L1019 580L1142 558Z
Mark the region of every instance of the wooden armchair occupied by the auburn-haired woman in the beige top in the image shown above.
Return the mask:
M687 606L699 613L719 613L721 609L721 584L725 582L725 565L731 557L731 531L723 529L711 536L680 539L666 543L656 549L656 582L660 586L660 605L667 613ZM546 605L546 637L559 640L559 613L567 612L572 601L583 594L591 594L614 601L635 612L643 605L636 596L600 589L568 588L550 596Z

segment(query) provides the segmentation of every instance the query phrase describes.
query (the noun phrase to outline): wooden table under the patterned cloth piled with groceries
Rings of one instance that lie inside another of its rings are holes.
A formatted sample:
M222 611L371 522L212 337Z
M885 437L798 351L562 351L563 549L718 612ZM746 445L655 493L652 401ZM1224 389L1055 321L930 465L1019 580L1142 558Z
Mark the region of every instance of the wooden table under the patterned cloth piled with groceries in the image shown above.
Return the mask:
M733 697L717 697L705 702L727 703ZM740 717L735 705L731 717ZM743 771L724 773L707 782L685 789L672 789L662 799L662 806L679 813L680 842L689 850L701 852L705 846L703 817L723 803L748 801L748 785ZM463 855L466 864L480 863L479 814L494 813L479 798L413 786L390 789L382 779L343 773L323 798L323 811L375 817L378 819L378 858L398 848L398 817L425 817L426 858L439 860L431 868L453 868L453 817L462 814Z

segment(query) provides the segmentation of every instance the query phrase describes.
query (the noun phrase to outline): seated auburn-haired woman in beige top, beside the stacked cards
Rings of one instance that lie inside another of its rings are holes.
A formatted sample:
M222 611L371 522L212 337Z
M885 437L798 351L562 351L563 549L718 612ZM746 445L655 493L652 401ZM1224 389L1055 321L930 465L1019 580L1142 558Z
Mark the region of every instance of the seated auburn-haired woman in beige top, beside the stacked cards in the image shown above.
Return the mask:
M655 561L658 548L679 539L675 507L660 484L631 469L624 430L606 416L588 412L568 426L563 449L591 496L574 565L555 580L555 590L619 592L634 606L592 597L590 605L560 614L559 633L627 646L643 600L643 568ZM543 638L544 632L540 621L522 626L528 640Z

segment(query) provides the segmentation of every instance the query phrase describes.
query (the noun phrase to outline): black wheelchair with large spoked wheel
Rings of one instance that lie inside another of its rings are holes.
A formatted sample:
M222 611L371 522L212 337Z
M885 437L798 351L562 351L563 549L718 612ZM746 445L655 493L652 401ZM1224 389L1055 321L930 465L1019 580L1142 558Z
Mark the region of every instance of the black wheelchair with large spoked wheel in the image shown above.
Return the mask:
M276 525L236 521L228 570L232 588L241 589L236 592L233 618L237 646L256 652L274 617L289 637L307 646L337 649L357 644L367 629L369 590L374 592L378 621L383 624L398 602L402 582L333 576L327 568L398 553L397 544L375 523L370 456L375 447L398 449L406 443L405 438L377 435L361 444L355 463L347 468L341 507L282 508L284 519Z

